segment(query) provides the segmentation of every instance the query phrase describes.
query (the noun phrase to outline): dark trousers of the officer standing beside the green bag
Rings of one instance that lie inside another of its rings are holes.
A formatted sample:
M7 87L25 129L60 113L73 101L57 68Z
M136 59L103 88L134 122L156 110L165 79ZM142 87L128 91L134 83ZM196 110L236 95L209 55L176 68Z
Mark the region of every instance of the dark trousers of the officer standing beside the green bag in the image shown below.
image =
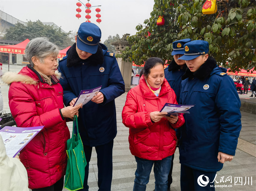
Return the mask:
M98 166L98 187L99 190L111 190L112 182L112 151L113 151L114 141L105 144L96 146L95 150L97 153L97 166ZM92 147L83 145L85 158L87 165L85 167L85 177L83 183L83 189L80 190L89 190L88 186L88 175L89 175L89 162L92 156Z

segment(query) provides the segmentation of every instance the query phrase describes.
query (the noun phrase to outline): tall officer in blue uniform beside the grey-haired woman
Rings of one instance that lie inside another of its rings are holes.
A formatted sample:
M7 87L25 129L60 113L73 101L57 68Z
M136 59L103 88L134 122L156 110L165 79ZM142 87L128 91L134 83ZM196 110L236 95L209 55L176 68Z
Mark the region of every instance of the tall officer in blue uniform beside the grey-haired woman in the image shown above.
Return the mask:
M60 83L64 90L64 104L73 105L81 90L101 90L79 111L78 127L83 141L87 166L84 188L87 185L92 147L97 152L99 190L111 190L113 139L117 134L114 99L125 91L124 81L114 53L99 43L100 28L83 22L76 35L76 43L59 61Z

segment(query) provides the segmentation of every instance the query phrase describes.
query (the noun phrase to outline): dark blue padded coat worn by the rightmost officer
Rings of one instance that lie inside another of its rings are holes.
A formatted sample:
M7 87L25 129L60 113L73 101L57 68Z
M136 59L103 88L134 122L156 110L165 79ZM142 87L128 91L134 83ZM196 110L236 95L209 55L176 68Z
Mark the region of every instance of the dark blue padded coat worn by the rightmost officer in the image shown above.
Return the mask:
M181 82L181 104L195 106L189 109L190 114L183 115L180 163L192 169L216 172L223 167L217 160L219 151L235 155L242 126L241 102L225 68L215 64L204 79L196 76L204 75L205 71L198 71L197 75L186 73L184 77L189 77Z

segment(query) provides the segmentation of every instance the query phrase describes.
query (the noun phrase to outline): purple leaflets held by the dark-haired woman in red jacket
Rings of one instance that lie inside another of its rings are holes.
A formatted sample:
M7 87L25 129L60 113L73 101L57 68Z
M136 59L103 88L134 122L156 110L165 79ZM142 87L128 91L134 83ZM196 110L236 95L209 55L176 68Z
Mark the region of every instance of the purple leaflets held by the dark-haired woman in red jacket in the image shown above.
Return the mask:
M165 103L164 107L160 110L160 112L167 112L168 114L166 116L183 115L186 113L190 113L187 110L194 106L195 105L178 105L178 104Z

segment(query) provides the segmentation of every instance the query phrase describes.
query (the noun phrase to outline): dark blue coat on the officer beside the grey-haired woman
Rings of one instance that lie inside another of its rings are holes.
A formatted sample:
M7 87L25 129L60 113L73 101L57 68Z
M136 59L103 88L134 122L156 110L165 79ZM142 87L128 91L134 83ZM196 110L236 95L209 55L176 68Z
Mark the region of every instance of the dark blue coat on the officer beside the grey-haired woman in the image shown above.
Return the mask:
M79 109L78 127L84 145L103 145L117 134L114 99L125 91L123 77L114 54L107 52L105 45L100 44L102 50L99 46L96 54L86 60L78 57L74 45L67 51L67 56L59 61L58 70L64 77L60 80L64 104L69 106L81 90L102 85L100 92L104 95L103 103L89 101ZM99 70L102 67L103 72Z

